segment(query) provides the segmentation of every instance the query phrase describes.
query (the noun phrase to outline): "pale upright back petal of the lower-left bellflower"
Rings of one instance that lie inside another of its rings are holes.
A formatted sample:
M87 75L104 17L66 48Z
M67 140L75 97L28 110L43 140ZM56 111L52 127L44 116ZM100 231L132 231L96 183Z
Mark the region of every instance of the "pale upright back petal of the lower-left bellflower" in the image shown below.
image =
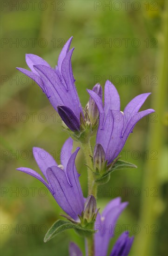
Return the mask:
M61 155L60 155L60 162L63 165L64 169L67 169L67 162L72 155L72 148L73 148L73 139L70 137L65 141L64 145L61 149Z

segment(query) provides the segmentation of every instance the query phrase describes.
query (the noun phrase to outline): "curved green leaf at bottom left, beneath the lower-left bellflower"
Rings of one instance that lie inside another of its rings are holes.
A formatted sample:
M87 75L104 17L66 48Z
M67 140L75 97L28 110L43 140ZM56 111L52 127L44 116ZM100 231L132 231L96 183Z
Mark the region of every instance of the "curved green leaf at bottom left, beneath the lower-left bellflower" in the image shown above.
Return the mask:
M89 236L94 233L93 229L85 229L79 226L78 224L74 224L72 222L67 222L63 220L58 220L54 222L50 229L48 229L46 236L44 237L44 242L48 242L54 236L60 234L62 231L66 229L75 229L75 231L82 236Z

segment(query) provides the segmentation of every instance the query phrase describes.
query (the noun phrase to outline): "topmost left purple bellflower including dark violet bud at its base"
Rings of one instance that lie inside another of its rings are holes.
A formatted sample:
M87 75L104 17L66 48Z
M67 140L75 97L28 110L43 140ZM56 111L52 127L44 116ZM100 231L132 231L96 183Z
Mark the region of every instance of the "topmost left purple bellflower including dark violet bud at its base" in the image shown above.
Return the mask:
M34 54L26 54L27 66L31 71L17 67L23 74L33 79L46 94L53 108L59 113L67 127L73 132L80 129L81 103L74 86L71 57L74 48L69 50L71 37L62 48L55 68Z

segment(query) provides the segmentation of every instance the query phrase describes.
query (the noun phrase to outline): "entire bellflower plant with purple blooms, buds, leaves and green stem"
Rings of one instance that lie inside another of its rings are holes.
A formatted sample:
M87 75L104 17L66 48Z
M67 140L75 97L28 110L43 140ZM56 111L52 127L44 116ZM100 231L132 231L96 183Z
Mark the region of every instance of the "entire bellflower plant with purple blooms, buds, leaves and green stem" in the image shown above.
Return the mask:
M57 164L44 149L33 148L34 159L44 178L31 168L21 167L17 170L40 180L66 213L62 215L66 221L57 220L48 230L45 242L60 231L73 228L86 239L86 255L106 256L109 241L114 236L113 227L128 203L121 202L119 197L115 198L100 214L100 209L97 209L95 188L99 184L108 182L114 169L136 167L134 164L120 160L119 155L128 135L133 132L135 124L154 110L147 109L139 112L150 94L145 93L136 96L122 112L120 96L110 81L105 83L104 97L100 84L96 84L92 90L87 90L88 103L86 108L82 108L74 85L71 65L74 48L70 50L71 41L72 37L63 47L56 67L50 67L37 55L26 54L26 62L31 71L17 68L40 86L60 115L64 130L70 135L62 147L64 159L61 159L60 164ZM96 143L92 152L90 137L95 133ZM76 148L72 153L73 140L81 144L86 157L87 198L82 194L80 175L75 166L75 158L80 148ZM47 157L40 157L41 150ZM108 229L109 226L111 230ZM133 240L134 237L129 237L128 232L122 233L114 244L110 256L127 256ZM82 256L81 249L75 243L70 243L69 254Z

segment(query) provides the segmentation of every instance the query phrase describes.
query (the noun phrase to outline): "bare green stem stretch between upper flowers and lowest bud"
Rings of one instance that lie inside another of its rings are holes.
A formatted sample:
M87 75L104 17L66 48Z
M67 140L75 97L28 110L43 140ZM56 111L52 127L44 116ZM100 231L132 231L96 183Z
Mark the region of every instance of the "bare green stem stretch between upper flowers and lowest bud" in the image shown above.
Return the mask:
M90 146L90 141L88 140L87 143L81 143L81 148L83 150L83 153L85 155L85 160L86 160L86 164L87 166L89 166L90 168L93 167L93 163L92 163L92 159L90 157L90 155L92 155L92 149ZM97 194L97 186L94 183L94 176L92 174L91 169L87 167L87 179L88 179L88 195L94 195L94 197L96 198L96 194Z

